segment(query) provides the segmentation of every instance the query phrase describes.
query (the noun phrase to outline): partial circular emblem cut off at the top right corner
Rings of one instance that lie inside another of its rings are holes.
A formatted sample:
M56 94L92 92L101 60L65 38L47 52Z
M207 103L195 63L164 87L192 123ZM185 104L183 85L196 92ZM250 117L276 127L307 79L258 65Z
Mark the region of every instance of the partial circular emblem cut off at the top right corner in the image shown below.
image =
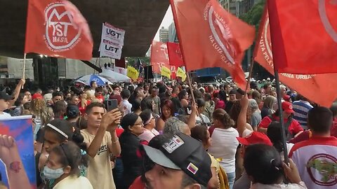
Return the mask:
M331 6L335 6L334 8L331 8ZM335 11L334 13L329 14L326 10L327 7L330 9L333 9ZM335 18L334 15L336 15L336 8L337 8L337 0L330 0L329 3L326 5L326 0L319 0L318 1L318 10L319 10L319 16L321 17L322 23L324 25L325 31L331 36L333 41L337 43L337 31L332 26L336 26L336 19L329 20L329 15L331 15L330 18ZM333 15L333 16L332 16ZM334 23L331 23L334 22Z

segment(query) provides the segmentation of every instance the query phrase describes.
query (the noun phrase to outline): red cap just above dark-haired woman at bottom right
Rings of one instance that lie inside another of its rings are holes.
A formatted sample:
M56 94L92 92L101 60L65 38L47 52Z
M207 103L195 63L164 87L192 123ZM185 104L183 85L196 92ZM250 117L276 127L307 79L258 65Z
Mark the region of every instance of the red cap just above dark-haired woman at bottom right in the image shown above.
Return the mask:
M240 144L245 146L249 146L251 144L267 144L268 146L272 146L272 142L267 137L267 135L261 132L251 132L247 137L237 137L237 140Z

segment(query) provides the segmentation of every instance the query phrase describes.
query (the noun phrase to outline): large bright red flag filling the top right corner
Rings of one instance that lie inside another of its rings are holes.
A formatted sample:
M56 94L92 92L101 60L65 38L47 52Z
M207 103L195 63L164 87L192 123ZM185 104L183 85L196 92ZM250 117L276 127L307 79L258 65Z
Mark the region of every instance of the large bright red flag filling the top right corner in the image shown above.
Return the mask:
M269 0L275 66L281 73L337 73L336 0Z

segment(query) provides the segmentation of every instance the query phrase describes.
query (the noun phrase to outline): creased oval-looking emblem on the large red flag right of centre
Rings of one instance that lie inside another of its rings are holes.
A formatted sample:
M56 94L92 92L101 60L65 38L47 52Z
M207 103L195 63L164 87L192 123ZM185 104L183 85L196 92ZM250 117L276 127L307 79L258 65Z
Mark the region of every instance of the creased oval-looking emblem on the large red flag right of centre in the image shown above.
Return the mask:
M234 46L234 37L228 23L225 20L226 18L223 18L221 15L216 13L213 6L211 6L211 3L206 5L204 18L209 22L211 36L208 37L214 50L220 53L220 57L225 63L234 65L237 52Z

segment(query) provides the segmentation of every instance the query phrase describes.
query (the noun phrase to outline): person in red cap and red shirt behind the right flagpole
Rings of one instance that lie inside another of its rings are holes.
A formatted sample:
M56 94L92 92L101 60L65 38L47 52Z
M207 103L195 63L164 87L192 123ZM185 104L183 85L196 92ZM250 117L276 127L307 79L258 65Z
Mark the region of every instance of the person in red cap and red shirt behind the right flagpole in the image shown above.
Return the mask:
M297 120L291 118L291 113L293 113L293 106L290 102L282 102L282 110L283 110L283 118L284 118L284 125L288 127L289 133L292 136L296 136L303 132L303 128L300 127L300 124ZM261 120L260 125L258 125L258 131L266 133L267 128L269 127L272 121L279 121L279 111L276 111L272 114L272 116L266 116Z

